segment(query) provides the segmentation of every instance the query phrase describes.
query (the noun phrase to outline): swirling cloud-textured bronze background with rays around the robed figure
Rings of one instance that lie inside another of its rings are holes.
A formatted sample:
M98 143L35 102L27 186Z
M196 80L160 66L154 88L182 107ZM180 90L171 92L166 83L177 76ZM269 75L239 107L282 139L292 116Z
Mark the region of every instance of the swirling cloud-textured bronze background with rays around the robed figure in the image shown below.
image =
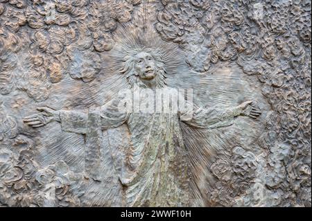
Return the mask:
M144 46L196 104L256 100L263 112L181 125L193 206L311 206L311 1L0 0L1 206L122 205L109 147L103 180L86 180L83 136L22 118L105 104L128 87L123 56Z

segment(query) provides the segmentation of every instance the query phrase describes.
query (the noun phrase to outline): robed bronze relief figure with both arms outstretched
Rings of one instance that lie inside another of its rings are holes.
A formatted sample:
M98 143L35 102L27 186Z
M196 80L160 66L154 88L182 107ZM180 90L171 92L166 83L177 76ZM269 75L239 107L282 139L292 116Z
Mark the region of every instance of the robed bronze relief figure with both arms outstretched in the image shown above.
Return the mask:
M133 91L136 85L153 91L167 87L162 56L153 48L142 48L128 56L121 73ZM132 98L116 96L102 107L85 112L39 107L40 112L24 118L24 123L42 127L58 121L64 131L86 134L89 148L101 148L101 133L125 123L130 132L120 177L125 206L189 206L189 159L180 121L209 129L232 125L237 116L257 118L261 114L252 101L223 109L202 108L185 101L187 108L178 108L177 112L129 112L120 108L121 102L132 103ZM148 98L140 99L144 103Z

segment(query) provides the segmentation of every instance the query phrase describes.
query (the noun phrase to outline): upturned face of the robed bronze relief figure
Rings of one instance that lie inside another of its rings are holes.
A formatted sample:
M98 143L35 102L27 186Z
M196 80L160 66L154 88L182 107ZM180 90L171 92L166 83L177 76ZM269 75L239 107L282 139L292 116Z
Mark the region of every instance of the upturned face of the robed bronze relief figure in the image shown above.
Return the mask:
M141 80L153 80L157 74L153 56L150 55L150 53L142 51L135 57L135 71L139 78L141 78Z

